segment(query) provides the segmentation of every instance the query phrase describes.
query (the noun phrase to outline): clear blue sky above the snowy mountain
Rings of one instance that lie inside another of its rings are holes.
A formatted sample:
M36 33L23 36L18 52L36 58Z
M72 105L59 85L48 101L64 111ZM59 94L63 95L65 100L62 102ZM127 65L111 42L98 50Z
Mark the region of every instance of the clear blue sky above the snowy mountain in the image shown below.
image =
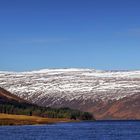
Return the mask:
M140 69L139 0L1 0L0 71Z

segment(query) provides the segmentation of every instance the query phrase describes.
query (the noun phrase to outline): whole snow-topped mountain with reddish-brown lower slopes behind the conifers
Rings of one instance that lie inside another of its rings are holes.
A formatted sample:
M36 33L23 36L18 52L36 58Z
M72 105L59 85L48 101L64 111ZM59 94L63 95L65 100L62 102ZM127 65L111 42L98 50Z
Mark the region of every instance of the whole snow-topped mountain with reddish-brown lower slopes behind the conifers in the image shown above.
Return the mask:
M97 119L140 119L140 71L0 72L0 86L41 106L90 111Z

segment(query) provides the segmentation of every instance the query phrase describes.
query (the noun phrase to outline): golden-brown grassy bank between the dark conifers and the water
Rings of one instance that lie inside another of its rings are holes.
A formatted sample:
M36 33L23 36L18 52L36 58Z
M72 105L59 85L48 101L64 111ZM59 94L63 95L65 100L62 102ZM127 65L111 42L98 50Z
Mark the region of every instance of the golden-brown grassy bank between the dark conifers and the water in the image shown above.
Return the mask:
M42 118L36 116L0 114L0 125L37 125L57 122L71 122L63 118Z

